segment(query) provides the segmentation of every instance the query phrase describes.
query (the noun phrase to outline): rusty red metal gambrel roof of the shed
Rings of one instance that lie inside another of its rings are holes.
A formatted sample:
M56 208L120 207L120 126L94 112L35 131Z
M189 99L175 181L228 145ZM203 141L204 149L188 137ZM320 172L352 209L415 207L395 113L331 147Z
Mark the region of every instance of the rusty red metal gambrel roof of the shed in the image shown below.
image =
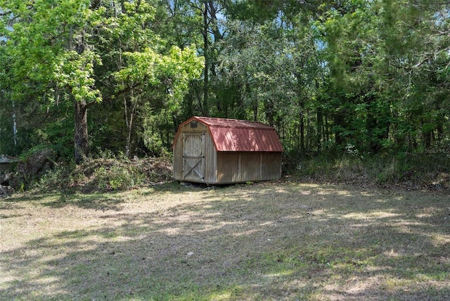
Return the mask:
M194 116L180 127L193 120L208 127L217 151L283 151L278 134L269 125L246 120Z

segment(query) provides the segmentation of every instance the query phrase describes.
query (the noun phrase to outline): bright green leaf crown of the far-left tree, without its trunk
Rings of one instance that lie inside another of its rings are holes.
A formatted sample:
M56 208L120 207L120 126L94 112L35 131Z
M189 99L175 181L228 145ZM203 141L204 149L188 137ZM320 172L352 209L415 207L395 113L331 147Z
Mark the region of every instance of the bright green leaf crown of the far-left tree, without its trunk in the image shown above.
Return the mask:
M86 0L35 1L30 6L22 1L0 2L17 20L12 30L3 32L6 52L13 63L9 84L15 93L22 93L20 79L27 79L51 84L44 92L57 83L68 88L77 100L101 99L93 88L94 63L101 63L98 56L89 49L75 50L75 44L86 36L87 24L101 18L98 11L89 9L89 4Z

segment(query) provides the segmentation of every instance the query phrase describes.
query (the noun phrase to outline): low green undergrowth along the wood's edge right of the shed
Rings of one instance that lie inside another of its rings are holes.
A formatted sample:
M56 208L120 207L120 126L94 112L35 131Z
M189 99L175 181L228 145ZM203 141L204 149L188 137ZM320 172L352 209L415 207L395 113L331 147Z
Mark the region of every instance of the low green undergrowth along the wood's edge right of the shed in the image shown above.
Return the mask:
M446 154L304 156L290 162L289 171L290 175L310 181L411 188L450 186L450 158Z

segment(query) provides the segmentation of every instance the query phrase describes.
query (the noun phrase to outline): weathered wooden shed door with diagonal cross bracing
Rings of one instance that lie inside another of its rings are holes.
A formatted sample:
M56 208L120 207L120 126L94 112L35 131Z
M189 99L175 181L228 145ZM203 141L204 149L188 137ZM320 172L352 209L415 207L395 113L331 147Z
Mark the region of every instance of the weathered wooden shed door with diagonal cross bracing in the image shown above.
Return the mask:
M205 133L184 133L183 179L205 181Z

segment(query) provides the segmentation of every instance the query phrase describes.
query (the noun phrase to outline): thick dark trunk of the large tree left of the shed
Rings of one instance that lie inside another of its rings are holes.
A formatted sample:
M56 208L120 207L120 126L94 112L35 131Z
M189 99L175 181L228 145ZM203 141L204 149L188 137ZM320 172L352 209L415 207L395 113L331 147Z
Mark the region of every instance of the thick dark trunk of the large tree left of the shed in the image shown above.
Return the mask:
M89 155L87 134L86 101L75 101L75 164L80 164Z

